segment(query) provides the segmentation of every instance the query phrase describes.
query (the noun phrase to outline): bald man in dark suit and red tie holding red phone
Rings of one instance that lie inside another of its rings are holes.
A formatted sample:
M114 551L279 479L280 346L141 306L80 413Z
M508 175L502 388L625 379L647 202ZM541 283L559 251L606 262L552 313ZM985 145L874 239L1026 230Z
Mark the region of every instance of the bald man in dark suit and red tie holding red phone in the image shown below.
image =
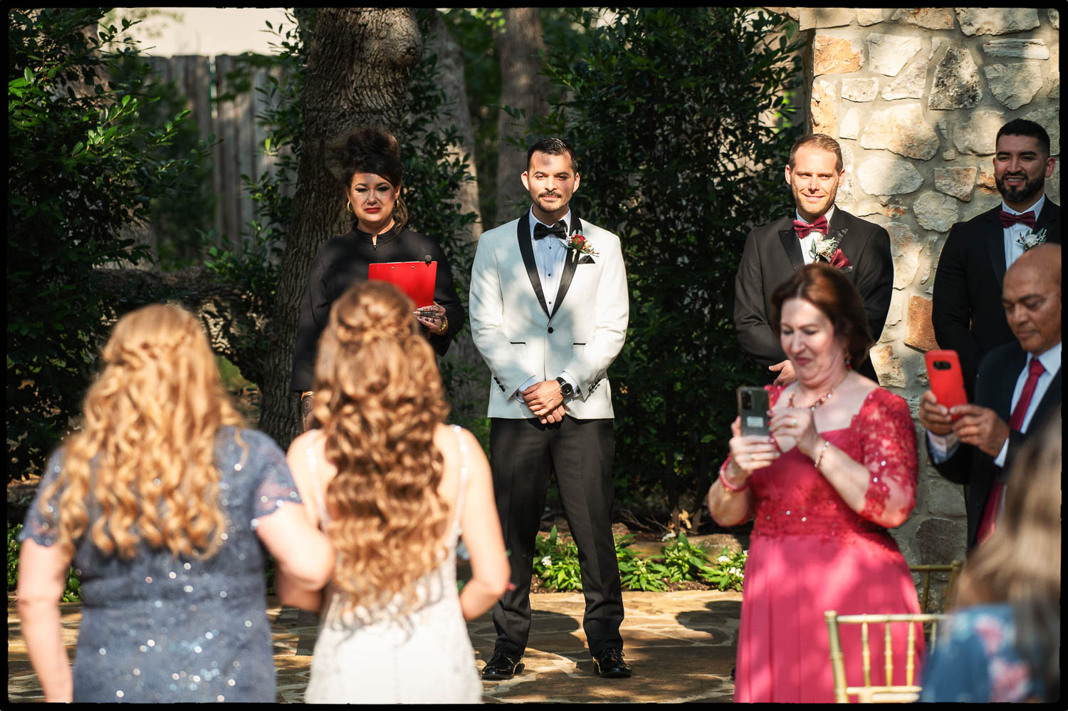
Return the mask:
M993 531L1014 457L1061 403L1061 245L1017 259L1001 300L1014 338L979 360L974 404L946 409L930 390L920 400L934 468L964 484L969 548Z

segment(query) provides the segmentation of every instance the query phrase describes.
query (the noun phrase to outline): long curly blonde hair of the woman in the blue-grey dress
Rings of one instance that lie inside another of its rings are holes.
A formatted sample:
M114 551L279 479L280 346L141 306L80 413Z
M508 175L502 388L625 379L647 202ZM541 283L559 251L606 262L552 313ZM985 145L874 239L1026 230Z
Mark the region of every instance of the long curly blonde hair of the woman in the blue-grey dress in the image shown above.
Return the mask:
M97 548L124 559L142 541L175 556L210 557L225 531L216 431L240 426L241 417L203 328L179 307L143 307L115 324L104 362L62 470L41 497L50 516L48 501L60 492L57 542L73 550L90 527Z

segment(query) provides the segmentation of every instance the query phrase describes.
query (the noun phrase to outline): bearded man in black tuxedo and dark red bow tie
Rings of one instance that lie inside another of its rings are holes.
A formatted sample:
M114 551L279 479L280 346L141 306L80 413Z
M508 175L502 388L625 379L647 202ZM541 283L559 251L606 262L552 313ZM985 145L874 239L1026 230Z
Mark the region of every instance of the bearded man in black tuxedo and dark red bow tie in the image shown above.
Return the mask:
M983 355L1012 341L1001 304L1006 268L1039 241L1061 243L1061 207L1045 194L1056 163L1049 134L1015 119L999 129L995 151L1002 204L953 226L934 273L934 339L960 357L969 398Z

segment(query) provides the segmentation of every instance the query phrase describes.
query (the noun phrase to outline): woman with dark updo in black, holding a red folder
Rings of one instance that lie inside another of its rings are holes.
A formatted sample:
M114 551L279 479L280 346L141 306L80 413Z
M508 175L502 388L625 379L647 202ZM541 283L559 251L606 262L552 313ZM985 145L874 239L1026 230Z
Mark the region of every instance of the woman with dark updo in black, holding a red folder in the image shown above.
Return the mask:
M290 389L301 393L304 429L311 426L312 380L319 336L330 307L345 290L367 278L371 264L438 263L433 315L420 316L430 345L444 355L464 325L449 259L436 239L406 228L408 210L400 197L404 165L397 140L377 128L361 128L347 139L342 182L352 213L352 229L319 245L300 300ZM418 305L417 305L418 306Z

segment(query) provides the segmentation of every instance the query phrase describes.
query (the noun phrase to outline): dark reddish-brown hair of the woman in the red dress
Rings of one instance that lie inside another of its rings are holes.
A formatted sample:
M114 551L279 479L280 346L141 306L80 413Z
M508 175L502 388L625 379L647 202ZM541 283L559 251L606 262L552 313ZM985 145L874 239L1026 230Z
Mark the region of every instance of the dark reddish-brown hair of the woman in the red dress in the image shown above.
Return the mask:
M771 295L771 328L776 334L782 324L783 304L791 298L803 298L823 312L834 326L835 337L845 342L853 369L864 362L875 341L868 335L864 299L849 277L820 262L805 264L795 272Z

